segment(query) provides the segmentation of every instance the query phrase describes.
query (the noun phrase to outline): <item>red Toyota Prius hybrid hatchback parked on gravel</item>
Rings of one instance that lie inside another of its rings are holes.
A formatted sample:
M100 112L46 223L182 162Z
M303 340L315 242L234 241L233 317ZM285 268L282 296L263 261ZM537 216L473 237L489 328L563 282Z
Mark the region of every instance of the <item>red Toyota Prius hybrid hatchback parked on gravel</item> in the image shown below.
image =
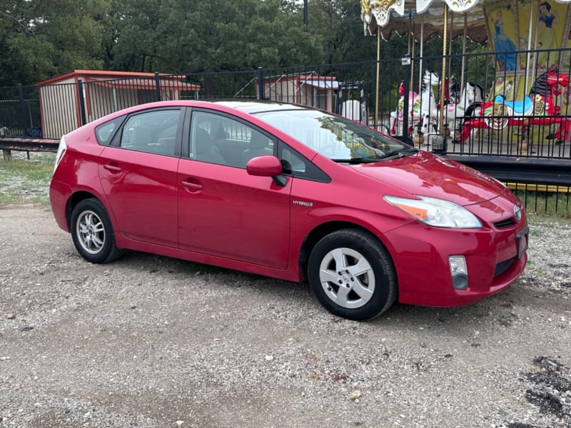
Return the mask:
M112 113L61 138L50 200L91 263L138 250L308 280L351 320L477 302L527 262L524 209L497 180L290 104Z

